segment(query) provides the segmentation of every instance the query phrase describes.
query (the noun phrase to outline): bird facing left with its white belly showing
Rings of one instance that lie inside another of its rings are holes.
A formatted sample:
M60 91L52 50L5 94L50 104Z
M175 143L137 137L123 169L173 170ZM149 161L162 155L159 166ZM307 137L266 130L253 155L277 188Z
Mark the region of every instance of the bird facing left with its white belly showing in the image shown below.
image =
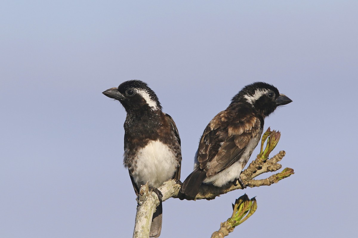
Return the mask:
M159 237L162 224L161 193L157 189L168 179L180 179L182 161L180 137L173 118L162 112L155 92L140 80L129 80L103 92L120 101L127 113L124 122L124 166L134 191L148 183L160 200L150 228Z

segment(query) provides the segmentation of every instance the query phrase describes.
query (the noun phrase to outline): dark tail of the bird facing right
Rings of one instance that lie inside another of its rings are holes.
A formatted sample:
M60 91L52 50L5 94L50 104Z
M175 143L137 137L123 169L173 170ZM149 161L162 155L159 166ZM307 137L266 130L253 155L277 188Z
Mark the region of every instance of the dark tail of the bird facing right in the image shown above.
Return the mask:
M199 188L204 179L206 178L206 172L197 168L185 179L182 187L179 190L178 198L180 200L194 200L199 193Z

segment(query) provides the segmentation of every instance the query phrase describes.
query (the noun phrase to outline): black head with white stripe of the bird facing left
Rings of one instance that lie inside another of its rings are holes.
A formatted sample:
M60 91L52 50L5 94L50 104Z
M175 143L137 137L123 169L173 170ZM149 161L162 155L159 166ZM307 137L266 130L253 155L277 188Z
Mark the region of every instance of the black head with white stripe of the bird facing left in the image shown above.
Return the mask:
M120 101L127 112L137 110L161 111L161 105L155 92L140 80L129 80L117 88L110 88L104 95Z

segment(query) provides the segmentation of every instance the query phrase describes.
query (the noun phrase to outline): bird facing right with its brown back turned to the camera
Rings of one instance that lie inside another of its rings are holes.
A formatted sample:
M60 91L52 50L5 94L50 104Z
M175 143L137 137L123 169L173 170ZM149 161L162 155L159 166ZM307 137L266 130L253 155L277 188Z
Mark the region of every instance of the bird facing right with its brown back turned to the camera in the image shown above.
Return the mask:
M238 92L205 128L194 171L185 179L178 197L194 199L203 182L222 187L238 180L244 187L240 173L260 141L265 117L290 102L276 87L264 82L252 83Z

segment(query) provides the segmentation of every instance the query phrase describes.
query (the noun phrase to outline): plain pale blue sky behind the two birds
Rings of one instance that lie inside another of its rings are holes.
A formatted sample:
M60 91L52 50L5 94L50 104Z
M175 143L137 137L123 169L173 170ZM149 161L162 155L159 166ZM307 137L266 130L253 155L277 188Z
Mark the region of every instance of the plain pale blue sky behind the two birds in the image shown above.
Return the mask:
M267 118L295 174L213 201L164 202L161 237L356 237L358 1L16 1L0 4L0 237L131 237L125 111L102 95L146 81L182 138L182 181L207 123L254 81L293 102ZM257 154L257 151L254 152Z

